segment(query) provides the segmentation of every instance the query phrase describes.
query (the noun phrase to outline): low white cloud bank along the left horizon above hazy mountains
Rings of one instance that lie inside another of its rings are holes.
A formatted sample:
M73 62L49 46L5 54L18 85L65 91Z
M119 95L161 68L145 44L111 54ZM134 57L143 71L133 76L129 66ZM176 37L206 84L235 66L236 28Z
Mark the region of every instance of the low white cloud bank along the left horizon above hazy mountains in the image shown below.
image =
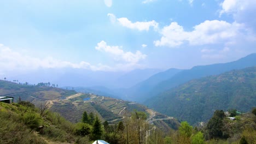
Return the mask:
M60 61L53 57L36 58L15 52L9 47L0 44L0 67L3 70L33 70L38 68L79 68L90 70L111 70L107 65L91 65L88 62L72 63ZM1 70L0 70L1 72Z

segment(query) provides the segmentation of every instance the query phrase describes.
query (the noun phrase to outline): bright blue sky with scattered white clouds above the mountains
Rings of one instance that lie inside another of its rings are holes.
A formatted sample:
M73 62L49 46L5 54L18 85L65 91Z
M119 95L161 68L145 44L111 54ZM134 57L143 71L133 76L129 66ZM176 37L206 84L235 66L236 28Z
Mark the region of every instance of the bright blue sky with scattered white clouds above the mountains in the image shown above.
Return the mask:
M0 75L234 61L256 52L255 7L254 0L3 0Z

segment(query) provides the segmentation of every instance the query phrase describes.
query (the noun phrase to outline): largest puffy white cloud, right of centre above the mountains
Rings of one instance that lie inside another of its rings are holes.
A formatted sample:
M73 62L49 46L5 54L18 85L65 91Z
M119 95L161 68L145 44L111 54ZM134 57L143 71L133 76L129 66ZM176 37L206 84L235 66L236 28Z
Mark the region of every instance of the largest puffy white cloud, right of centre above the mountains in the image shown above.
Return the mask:
M205 21L196 25L193 31L184 31L177 22L165 26L160 30L160 40L154 41L155 46L177 47L184 43L190 45L205 45L228 43L234 40L237 35L243 34L243 25L226 21Z

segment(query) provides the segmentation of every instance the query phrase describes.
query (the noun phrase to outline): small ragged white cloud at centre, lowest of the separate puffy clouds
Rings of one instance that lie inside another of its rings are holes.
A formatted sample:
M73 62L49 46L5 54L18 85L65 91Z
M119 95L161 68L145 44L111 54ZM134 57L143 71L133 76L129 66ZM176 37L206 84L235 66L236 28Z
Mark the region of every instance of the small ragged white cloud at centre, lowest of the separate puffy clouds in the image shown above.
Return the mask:
M122 50L122 46L109 46L105 41L101 41L95 47L98 51L103 51L110 53L117 60L123 60L128 63L136 64L137 62L145 59L147 55L142 54L140 51L136 51L136 53L132 52L124 52Z

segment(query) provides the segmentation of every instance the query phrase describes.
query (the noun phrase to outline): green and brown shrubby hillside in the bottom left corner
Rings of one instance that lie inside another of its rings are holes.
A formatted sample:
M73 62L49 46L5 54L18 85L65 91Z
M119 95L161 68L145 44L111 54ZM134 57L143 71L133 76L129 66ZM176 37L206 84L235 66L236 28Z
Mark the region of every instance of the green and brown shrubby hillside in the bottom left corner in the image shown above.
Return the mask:
M0 103L0 121L0 143L46 143L45 140L90 143L88 137L74 135L74 124L66 121L59 113L49 112L42 119L39 110L27 103ZM44 125L43 129L37 129L39 125ZM41 136L36 135L34 130L40 131Z

